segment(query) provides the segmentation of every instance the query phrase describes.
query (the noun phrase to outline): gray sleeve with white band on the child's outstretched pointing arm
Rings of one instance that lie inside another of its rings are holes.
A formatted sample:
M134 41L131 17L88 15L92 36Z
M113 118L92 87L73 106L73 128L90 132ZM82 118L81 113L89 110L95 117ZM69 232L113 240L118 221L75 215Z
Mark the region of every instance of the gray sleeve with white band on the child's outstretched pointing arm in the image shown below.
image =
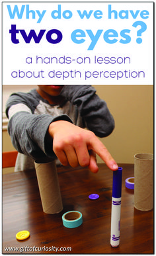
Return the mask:
M32 114L28 102L24 102L18 95L9 98L6 114L9 118L8 132L18 152L34 160L46 157L56 159L52 150L52 138L48 136L48 127L56 120L72 122L67 115Z

